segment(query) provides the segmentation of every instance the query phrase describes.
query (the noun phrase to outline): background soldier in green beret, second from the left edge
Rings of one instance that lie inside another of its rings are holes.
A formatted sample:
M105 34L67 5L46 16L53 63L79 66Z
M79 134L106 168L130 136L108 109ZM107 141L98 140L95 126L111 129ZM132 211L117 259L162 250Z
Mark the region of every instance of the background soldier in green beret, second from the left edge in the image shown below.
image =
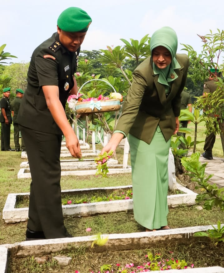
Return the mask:
M21 89L16 90L16 97L11 101L11 110L12 110L12 120L14 127L14 144L16 148L16 152L20 152L20 144L19 144L19 124L17 123L17 115L19 112L20 103L23 97L24 91ZM21 136L21 149L25 151L25 145L23 143L23 138Z

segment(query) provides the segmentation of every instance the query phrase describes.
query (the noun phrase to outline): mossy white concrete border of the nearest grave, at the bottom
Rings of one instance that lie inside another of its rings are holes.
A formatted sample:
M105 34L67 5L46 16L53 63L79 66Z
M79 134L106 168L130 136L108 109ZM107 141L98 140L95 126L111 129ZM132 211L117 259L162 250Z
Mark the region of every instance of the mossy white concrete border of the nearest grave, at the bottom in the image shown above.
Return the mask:
M223 224L222 224L223 226ZM214 225L217 228L217 225ZM96 252L103 251L123 251L147 248L148 246L163 245L164 241L167 241L169 245L176 245L176 242L189 244L193 241L198 241L197 237L193 237L194 232L207 231L212 229L212 226L198 226L198 227L185 227L176 228L170 230L160 230L155 232L136 232L125 234L104 234L103 238L108 237L108 241L105 246L95 247ZM206 239L206 238L205 238ZM37 241L23 241L14 244L5 244L0 246L0 273L7 272L8 258L11 257L11 253L15 257L27 257L31 253L34 256L44 256L53 252L65 251L68 247L80 247L85 244L87 247L91 247L91 243L95 240L95 236L80 236L72 238L59 238L49 240L37 240ZM201 267L180 270L185 273L224 273L224 268L221 266ZM178 271L178 272L180 272ZM160 271L154 271L160 272ZM169 270L170 273L176 272L176 270Z

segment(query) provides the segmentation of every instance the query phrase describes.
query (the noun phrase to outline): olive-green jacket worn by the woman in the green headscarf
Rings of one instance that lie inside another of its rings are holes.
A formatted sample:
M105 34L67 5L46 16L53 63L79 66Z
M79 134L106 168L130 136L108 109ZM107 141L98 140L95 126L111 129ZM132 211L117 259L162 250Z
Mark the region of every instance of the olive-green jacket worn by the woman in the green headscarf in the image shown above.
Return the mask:
M114 132L128 133L150 144L159 125L166 141L175 131L176 119L180 115L181 92L187 79L189 58L176 54L180 68L175 69L177 79L170 84L168 94L165 86L154 75L152 58L143 61L133 72L133 82L124 101Z

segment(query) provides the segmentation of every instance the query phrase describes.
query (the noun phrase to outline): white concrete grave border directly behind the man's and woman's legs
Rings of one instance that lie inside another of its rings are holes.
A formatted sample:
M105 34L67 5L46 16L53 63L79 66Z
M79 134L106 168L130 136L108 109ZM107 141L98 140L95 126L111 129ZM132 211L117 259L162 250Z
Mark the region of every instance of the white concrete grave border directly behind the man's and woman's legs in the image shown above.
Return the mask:
M86 188L86 189L74 189L74 190L62 190L62 193L79 193L89 192L96 190L113 190L113 189L127 189L132 188L129 186L119 187L105 187L105 188ZM178 190L183 191L182 194L168 195L168 206L177 207L178 205L187 204L194 205L197 193L183 187L177 183ZM28 219L28 207L27 208L15 208L17 196L29 195L29 193L10 193L7 196L5 206L2 211L2 218L6 223L16 223L26 221ZM133 200L115 200L106 202L84 203L75 205L62 205L63 214L65 216L83 216L93 215L96 213L106 212L118 212L133 209Z

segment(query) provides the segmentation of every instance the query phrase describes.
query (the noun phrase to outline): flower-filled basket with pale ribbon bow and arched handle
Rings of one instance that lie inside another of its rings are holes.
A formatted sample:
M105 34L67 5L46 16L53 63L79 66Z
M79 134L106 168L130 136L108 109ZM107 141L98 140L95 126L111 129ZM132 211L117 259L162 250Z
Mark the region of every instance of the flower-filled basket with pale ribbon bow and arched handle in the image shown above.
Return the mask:
M110 93L109 96L99 95L98 98L87 98L83 99L80 91L82 87L92 81L100 80L104 81L112 87L114 92ZM91 114L91 113L102 113L110 111L118 111L120 109L120 103L123 101L123 97L120 93L117 93L114 87L107 81L101 79L92 79L86 81L79 89L77 95L70 95L68 97L68 106L77 114Z

